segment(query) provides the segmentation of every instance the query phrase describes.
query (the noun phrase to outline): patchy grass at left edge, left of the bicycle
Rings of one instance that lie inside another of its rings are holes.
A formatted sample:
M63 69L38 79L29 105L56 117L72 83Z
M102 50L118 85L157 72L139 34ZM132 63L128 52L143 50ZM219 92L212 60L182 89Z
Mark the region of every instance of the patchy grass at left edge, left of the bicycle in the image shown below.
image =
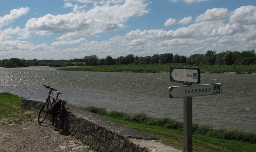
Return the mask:
M21 109L21 99L11 93L0 93L0 125L21 124L35 118L35 115Z

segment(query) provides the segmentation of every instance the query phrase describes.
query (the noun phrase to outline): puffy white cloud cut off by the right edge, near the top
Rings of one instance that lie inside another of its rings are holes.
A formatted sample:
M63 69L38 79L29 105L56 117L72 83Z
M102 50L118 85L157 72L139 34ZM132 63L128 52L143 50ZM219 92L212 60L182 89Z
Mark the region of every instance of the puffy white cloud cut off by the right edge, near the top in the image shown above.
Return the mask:
M256 24L256 6L242 6L233 11L230 15L230 22L241 25Z

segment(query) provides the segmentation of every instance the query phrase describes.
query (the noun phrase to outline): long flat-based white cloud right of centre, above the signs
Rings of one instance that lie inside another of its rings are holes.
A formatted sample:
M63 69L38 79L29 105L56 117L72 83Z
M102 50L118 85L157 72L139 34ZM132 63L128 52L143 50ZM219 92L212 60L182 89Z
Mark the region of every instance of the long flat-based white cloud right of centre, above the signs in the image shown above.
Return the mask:
M239 25L224 24L222 22L197 22L188 27L177 30L135 30L126 34L128 37L139 38L196 38L204 36L232 35L243 32L245 28Z

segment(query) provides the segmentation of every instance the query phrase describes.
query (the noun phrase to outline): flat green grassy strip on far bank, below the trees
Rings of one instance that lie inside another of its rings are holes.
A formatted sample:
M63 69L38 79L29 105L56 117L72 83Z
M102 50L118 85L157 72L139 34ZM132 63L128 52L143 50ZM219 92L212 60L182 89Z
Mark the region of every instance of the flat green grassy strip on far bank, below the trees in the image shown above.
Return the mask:
M201 73L224 73L234 72L237 74L256 73L256 65L186 65L181 63L168 64L129 64L129 65L110 65L110 66L85 66L85 67L67 67L57 70L70 71L94 71L94 72L141 72L141 73L163 73L169 72L170 67L192 66L199 67Z

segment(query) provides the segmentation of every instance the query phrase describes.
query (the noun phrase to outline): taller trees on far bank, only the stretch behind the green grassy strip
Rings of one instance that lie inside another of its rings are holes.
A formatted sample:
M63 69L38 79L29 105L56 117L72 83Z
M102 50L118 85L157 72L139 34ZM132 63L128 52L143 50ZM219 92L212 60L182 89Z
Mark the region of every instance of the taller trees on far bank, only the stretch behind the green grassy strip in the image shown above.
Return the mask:
M79 59L81 61L82 59ZM180 56L172 53L154 54L153 56L134 56L129 54L128 56L119 56L117 59L113 59L111 56L106 56L105 59L99 59L96 55L85 56L83 58L85 65L87 66L100 66L100 65L128 65L128 64L165 64L165 63L186 63L189 65L255 65L256 54L255 51L243 51L232 52L223 51L216 53L215 51L208 50L206 54L194 54L192 56ZM78 62L78 60L73 59Z

